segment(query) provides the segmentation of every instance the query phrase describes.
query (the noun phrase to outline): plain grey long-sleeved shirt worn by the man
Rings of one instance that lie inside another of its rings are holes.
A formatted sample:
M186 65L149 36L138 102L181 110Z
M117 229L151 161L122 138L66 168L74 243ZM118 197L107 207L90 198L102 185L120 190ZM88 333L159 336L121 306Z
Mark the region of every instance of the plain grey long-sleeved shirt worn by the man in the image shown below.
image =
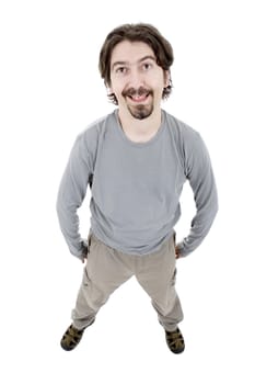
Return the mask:
M92 178L91 229L125 253L151 253L172 236L186 180L197 212L188 236L177 245L181 257L201 244L218 211L211 162L200 135L163 110L160 129L147 143L128 139L117 110L78 136L60 183L57 212L70 252L79 258L83 246L78 208Z

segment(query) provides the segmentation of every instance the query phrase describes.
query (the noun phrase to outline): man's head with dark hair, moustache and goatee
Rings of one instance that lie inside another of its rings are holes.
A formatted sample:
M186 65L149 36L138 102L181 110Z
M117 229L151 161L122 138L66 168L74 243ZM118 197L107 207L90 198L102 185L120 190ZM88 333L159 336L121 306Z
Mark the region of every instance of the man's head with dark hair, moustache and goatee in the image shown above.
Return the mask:
M98 67L109 100L120 108L125 104L135 117L144 118L154 103L171 93L173 60L171 44L154 26L124 24L107 35Z

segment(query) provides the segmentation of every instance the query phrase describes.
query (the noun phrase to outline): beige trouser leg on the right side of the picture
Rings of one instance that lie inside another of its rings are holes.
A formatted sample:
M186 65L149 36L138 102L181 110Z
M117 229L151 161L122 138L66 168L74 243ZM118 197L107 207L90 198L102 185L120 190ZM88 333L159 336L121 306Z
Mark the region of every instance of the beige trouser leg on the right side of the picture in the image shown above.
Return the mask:
M136 278L151 297L160 324L169 331L175 330L183 319L183 310L175 291L174 237L164 242L158 252L139 260Z

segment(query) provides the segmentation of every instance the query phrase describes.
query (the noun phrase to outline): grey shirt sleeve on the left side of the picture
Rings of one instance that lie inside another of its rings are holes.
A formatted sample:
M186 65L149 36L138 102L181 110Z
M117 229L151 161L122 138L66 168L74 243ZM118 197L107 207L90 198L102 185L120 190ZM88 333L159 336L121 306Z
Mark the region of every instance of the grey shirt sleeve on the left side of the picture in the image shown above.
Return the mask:
M78 258L82 258L85 246L79 231L77 211L85 197L90 176L89 150L80 135L72 147L57 196L60 229L70 252Z

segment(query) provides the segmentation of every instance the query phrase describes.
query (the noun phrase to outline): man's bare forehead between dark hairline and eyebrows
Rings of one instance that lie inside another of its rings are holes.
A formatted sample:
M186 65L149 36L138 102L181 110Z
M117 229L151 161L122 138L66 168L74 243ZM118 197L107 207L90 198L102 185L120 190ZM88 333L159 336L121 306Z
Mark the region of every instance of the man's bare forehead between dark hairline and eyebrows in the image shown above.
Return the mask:
M112 52L111 67L116 61L137 63L146 56L155 58L152 48L148 44L143 42L123 41Z

